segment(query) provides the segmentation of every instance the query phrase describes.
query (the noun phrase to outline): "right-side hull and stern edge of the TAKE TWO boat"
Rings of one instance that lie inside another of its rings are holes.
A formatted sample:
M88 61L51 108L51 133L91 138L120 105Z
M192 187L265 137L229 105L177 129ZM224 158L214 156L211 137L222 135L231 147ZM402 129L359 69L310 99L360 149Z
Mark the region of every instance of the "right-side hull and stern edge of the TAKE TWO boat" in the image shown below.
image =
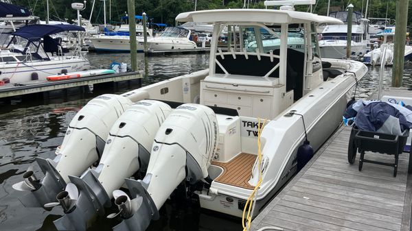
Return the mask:
M365 65L360 62L332 61L332 66L345 66L347 62L355 64L351 70L356 77L361 78L367 72ZM344 68L342 69L344 71ZM305 97L299 99L293 106L279 114L279 117L270 121L262 132L266 144L262 147L262 158L268 158L262 176L262 184L256 197L253 216L258 215L262 206L271 199L279 189L295 175L297 165L297 149L305 140L304 127L301 117L293 115L295 121L290 121L283 115L296 110L301 113L306 123L308 141L314 151L333 134L341 124L342 114L345 111L350 93L355 85L353 74L343 74L332 81L323 82L319 88L313 89ZM327 91L327 92L324 92ZM266 146L266 147L265 147ZM265 154L266 151L266 154ZM216 176L217 178L218 176ZM250 181L249 181L250 182ZM209 192L198 193L202 208L223 212L236 217L242 217L242 208L249 195L250 189L212 182Z

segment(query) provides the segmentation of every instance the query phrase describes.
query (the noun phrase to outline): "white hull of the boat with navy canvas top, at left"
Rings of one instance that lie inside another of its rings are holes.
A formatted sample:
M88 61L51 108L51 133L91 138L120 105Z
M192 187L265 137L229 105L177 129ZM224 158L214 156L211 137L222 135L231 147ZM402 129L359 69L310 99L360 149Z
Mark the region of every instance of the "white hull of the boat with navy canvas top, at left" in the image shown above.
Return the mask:
M57 75L62 71L74 72L90 69L90 63L84 58L65 59L52 58L47 61L12 62L0 64L0 80L10 80L10 83L24 83L34 80L37 73L38 80L47 81L49 75Z

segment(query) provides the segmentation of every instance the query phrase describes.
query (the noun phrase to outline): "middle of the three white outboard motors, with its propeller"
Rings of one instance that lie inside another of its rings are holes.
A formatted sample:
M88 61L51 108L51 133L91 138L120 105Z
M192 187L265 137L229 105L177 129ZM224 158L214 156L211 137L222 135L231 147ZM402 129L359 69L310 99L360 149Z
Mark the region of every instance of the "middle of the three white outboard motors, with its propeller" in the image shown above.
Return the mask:
M79 199L73 209L65 210L65 216L54 221L58 230L86 230L96 217L104 215L104 207L111 206L111 195L125 178L139 169L146 171L156 132L171 111L168 104L146 99L130 106L117 119L98 167L87 170L81 178L69 176L77 186ZM65 204L58 204L65 208Z

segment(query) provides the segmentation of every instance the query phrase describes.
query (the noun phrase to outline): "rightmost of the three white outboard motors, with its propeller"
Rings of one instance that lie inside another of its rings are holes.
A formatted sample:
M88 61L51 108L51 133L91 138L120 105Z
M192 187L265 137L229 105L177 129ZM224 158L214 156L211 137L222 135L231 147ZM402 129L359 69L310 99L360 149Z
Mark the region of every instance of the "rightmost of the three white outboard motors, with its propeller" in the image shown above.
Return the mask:
M124 219L114 230L146 230L151 219L159 218L159 209L183 180L194 184L207 178L217 138L218 123L211 108L200 104L176 108L156 134L144 179L126 179L134 199L130 201L121 191L113 193L118 214Z

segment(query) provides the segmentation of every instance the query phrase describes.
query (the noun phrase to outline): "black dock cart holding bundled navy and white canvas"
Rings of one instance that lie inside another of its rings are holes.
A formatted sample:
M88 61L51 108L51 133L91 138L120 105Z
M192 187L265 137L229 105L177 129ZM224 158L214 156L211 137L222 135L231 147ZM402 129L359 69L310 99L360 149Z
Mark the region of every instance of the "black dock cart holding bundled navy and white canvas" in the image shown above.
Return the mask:
M406 146L409 130L405 130L402 136L383 134L379 132L368 132L358 130L354 125L350 132L349 145L347 149L347 161L352 165L355 162L356 153L361 154L359 158L359 171L362 170L364 162L370 162L378 165L387 165L393 167L393 176L396 177L398 171L399 154L409 152L408 173L412 173L412 149ZM379 152L395 156L393 164L387 162L378 162L365 159L365 151Z

